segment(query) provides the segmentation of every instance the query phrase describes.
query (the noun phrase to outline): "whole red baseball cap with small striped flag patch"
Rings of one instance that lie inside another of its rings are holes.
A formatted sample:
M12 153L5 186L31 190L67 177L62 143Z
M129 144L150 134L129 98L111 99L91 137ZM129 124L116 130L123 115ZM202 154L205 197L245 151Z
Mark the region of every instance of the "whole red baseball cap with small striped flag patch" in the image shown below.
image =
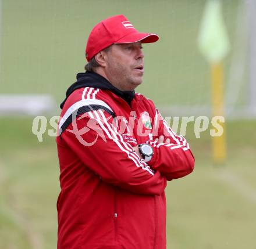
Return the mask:
M99 51L112 44L138 41L151 43L158 39L157 34L138 32L125 16L112 16L102 20L91 31L86 46L86 59L91 60Z

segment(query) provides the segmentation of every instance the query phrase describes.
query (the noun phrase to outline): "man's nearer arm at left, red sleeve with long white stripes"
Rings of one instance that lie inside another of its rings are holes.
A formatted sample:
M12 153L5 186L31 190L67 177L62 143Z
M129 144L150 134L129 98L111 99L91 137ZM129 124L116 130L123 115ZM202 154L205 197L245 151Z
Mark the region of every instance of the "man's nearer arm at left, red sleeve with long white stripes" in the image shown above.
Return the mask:
M108 117L97 110L77 118L62 133L63 142L102 181L136 194L162 194L165 176L140 159Z

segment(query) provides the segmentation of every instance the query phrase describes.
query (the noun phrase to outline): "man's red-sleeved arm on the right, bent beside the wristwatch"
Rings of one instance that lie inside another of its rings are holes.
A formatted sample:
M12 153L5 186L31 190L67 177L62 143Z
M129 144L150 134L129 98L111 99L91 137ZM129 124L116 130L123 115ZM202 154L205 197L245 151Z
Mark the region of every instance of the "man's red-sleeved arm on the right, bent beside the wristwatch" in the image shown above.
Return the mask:
M153 139L147 143L152 146L154 154L147 164L161 172L168 181L190 174L195 160L186 139L172 131L157 109L153 127ZM137 146L134 150L138 153Z

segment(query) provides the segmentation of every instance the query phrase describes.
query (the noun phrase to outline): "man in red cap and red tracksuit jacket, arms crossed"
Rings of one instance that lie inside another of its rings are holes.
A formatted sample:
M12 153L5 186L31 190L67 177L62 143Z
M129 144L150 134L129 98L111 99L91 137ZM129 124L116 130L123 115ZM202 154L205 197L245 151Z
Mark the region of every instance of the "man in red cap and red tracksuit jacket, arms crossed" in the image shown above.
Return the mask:
M166 181L193 171L189 144L134 89L142 83L139 33L125 16L93 28L86 73L61 104L58 249L166 248Z

